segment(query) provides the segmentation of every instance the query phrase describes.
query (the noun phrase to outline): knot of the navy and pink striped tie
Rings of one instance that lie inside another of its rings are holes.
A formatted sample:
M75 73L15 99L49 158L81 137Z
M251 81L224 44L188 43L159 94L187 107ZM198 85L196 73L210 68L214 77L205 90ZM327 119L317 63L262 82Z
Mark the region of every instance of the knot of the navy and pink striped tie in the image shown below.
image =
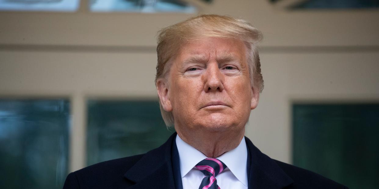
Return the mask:
M226 169L226 165L216 158L205 158L196 164L195 167L204 175L213 175L213 177L216 177L224 169Z

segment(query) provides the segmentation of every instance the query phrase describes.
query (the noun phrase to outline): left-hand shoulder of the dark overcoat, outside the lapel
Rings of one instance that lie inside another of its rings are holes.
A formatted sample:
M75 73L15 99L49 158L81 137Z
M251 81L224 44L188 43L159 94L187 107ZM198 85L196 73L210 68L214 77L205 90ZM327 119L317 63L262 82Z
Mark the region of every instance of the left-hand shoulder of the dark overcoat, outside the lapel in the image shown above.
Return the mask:
M104 161L70 173L64 183L68 188L117 188L127 186L125 172L136 164L144 154ZM113 186L109 186L112 183Z

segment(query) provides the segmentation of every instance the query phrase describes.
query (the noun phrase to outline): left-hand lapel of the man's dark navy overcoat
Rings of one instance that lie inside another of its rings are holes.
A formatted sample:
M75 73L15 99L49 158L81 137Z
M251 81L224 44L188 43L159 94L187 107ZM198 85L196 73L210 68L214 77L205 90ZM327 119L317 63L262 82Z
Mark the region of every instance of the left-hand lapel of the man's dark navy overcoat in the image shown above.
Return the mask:
M172 174L171 146L176 133L162 146L147 152L124 177L135 184L130 189L167 188L174 189Z

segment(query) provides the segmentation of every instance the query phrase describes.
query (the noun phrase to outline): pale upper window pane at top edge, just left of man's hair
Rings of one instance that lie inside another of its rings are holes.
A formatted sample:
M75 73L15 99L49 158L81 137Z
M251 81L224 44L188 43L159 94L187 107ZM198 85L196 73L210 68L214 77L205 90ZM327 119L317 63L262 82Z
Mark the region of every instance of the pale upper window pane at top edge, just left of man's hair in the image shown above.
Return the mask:
M196 12L194 6L181 0L91 0L94 12Z

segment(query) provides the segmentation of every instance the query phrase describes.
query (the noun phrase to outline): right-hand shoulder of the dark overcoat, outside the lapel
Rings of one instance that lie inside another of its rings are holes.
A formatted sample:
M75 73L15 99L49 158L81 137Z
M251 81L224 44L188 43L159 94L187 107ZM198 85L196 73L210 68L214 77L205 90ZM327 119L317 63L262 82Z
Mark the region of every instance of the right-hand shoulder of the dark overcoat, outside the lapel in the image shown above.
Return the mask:
M315 172L302 169L281 161L274 160L275 163L293 179L294 183L288 188L335 188L347 189L347 187L339 184L329 178L323 177Z

